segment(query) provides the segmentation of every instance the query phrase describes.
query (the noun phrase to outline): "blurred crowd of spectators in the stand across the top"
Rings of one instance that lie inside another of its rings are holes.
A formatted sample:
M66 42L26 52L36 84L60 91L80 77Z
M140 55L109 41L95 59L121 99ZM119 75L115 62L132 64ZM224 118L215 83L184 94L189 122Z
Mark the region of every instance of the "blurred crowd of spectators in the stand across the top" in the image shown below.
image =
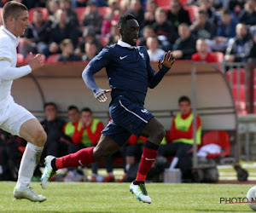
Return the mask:
M137 45L148 49L152 61L168 50L177 60L207 62L220 62L211 52L223 53L227 62L246 62L256 53L255 0L172 0L163 8L157 5L161 0L21 2L32 11L20 39L25 59L32 52L45 59L56 55L57 61L90 61L104 46L117 43L119 16L125 13L137 18Z

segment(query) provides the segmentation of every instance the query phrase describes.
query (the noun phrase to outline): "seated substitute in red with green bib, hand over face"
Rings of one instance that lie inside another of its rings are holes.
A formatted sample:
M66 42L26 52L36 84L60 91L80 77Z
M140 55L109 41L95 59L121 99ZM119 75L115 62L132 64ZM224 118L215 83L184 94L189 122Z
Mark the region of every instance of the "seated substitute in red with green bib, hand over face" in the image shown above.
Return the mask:
M81 113L81 128L73 135L74 141L82 141L85 147L96 147L103 130L102 121L93 118L90 108L84 108ZM113 161L108 158L105 161L108 176L102 181L114 181ZM91 164L92 175L90 181L97 181L98 163Z

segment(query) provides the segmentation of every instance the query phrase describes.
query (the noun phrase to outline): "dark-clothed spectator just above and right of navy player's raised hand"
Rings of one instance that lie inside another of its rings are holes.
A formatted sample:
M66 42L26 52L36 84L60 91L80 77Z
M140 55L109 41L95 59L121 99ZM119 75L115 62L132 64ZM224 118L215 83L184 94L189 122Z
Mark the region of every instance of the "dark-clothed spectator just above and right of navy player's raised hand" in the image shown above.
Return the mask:
M196 52L197 37L191 33L189 26L185 23L178 26L178 34L179 38L174 44L172 55L175 59L190 60L191 55Z

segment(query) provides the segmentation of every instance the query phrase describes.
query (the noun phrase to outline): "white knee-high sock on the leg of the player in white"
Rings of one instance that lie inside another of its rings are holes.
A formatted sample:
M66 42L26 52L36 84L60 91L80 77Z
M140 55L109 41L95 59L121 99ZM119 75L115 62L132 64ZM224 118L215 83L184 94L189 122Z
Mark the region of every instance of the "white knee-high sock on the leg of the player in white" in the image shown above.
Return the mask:
M40 160L43 149L44 147L38 147L32 143L27 142L26 150L23 153L20 162L20 170L16 188L28 187L34 174L34 170L36 169Z

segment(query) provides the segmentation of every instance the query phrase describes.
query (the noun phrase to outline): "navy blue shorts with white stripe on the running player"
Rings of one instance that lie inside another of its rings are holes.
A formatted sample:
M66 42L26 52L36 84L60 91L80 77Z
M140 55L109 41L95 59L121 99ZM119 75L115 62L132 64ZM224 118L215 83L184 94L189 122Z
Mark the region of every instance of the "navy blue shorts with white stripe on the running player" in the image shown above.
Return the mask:
M102 130L103 135L111 137L119 146L128 141L131 134L139 136L153 114L143 106L135 104L124 96L116 97L109 107L111 120Z

